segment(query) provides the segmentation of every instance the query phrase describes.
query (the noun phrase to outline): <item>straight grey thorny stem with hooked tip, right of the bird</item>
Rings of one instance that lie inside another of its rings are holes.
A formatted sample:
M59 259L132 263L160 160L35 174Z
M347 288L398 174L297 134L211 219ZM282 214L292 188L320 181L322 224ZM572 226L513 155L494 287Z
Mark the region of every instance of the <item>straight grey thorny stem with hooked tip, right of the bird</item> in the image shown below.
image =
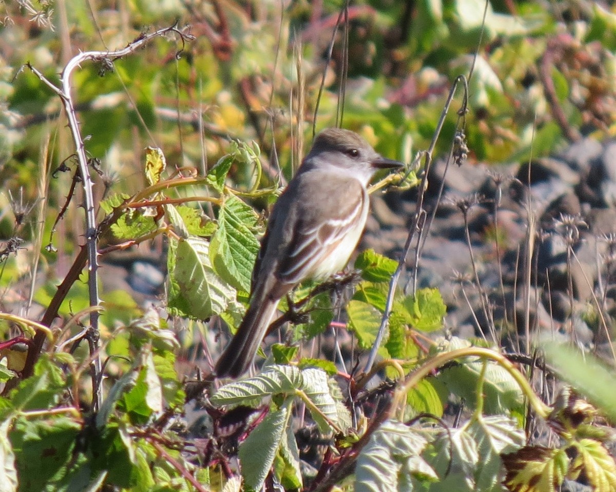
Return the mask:
M379 347L381 346L381 342L383 341L383 336L387 329L387 325L389 324L389 316L391 315L391 309L394 305L394 294L395 288L400 280L400 275L402 275L402 270L406 267L407 257L411 250L411 245L413 244L413 238L415 237L415 232L418 229L419 222L422 217L425 216L426 211L424 210L424 195L426 192L426 187L428 185L428 174L430 171L430 167L432 164L432 153L434 153L434 148L436 147L436 142L440 136L440 132L445 124L445 117L449 112L449 107L453 101L453 95L458 87L458 83L462 82L464 84L464 99L462 103L462 107L460 108L459 114L466 114L467 103L468 103L468 85L466 84L466 78L463 75L458 76L452 86L451 91L449 91L449 96L447 98L447 102L445 102L445 107L443 108L442 113L440 114L439 123L436 126L436 130L434 131L434 135L432 136L432 142L430 143L430 147L424 153L425 164L423 177L421 178L421 184L419 185L419 198L417 200L417 206L415 209L415 216L413 216L413 220L411 222L411 226L408 231L407 242L404 245L404 249L402 252L402 257L398 262L398 267L395 269L394 275L392 275L391 280L389 281L389 291L387 292L387 301L385 303L385 310L383 313L383 317L381 318L381 326L379 326L379 331L376 334L376 339L374 344L372 345L372 349L370 350L370 355L368 356L368 361L363 368L364 373L370 372L372 365L375 363L376 352L378 352ZM417 271L417 265L415 265L415 272ZM415 294L415 288L413 288L413 294Z

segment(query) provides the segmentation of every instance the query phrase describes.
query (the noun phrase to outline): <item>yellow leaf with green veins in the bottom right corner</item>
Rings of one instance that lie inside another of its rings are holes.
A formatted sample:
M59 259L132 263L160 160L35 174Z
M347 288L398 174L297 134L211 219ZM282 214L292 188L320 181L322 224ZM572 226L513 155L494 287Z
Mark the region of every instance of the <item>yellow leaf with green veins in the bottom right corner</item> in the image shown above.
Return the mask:
M582 439L574 445L578 451L571 464L571 471L583 471L588 485L594 492L613 492L616 490L616 462L603 443L593 439Z

